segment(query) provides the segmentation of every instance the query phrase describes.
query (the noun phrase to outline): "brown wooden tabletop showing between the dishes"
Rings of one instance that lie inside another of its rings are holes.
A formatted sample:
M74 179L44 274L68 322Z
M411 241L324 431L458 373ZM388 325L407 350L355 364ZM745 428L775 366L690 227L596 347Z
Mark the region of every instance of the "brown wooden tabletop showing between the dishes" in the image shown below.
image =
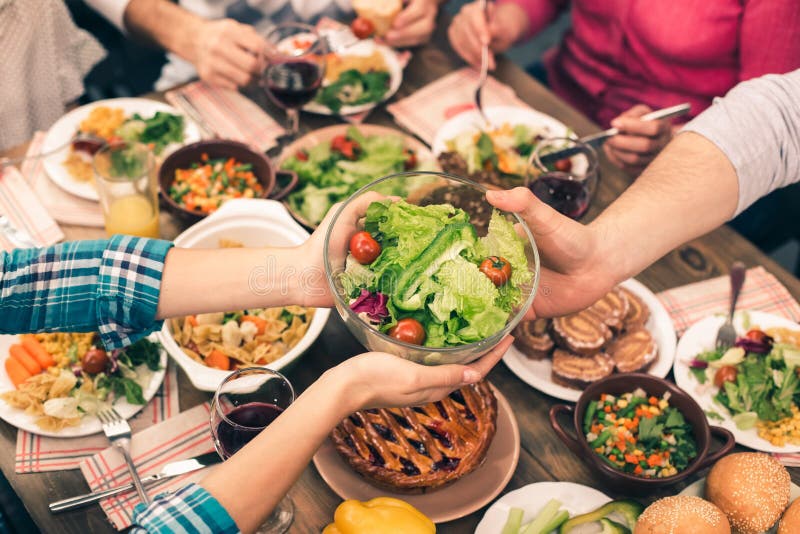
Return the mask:
M414 52L414 57L405 71L405 80L395 98L407 96L427 83L447 74L462 64L455 59L442 36L434 39L434 44ZM572 127L577 134L586 135L597 130L597 126L575 111L568 104L550 93L546 88L530 78L524 71L510 61L501 58L494 75L510 85L519 97L539 111L552 115ZM160 98L159 95L152 95ZM283 120L283 115L269 105L268 111ZM385 109L373 111L368 122L395 126L391 115ZM301 120L303 131L337 123L336 119L304 114ZM21 147L3 155L18 155ZM601 181L593 202L589 218L595 216L602 207L612 202L630 183L630 178L611 166L607 161L601 164ZM55 187L55 186L54 186ZM161 215L162 237L174 238L183 229L172 218ZM62 226L67 239L103 237L96 228ZM648 239L647 229L643 229L642 239ZM635 243L631 243L635 246ZM671 252L637 278L651 290L658 292L668 288L697 282L727 272L734 260L743 261L748 267L763 265L789 289L795 298L800 298L800 281L778 264L759 252L748 241L727 227L720 228L707 236L697 239ZM546 291L546 288L540 288ZM338 362L362 352L363 348L347 332L337 314L332 314L325 330L317 342L303 356L298 365L288 373L289 379L299 391L311 384L323 371ZM526 484L539 481L571 481L599 487L597 480L566 447L558 440L548 423L548 410L558 402L531 388L508 368L499 364L489 375L489 379L511 402L519 422L522 451L514 477L503 490L512 491ZM210 395L195 390L183 371L179 370L180 403L185 410L200 402L209 400ZM84 493L87 485L79 471L61 471L17 475L14 473L14 452L17 431L14 427L0 422L0 468L12 487L25 504L28 513L43 532L107 532L109 523L99 506L53 516L47 509L51 501L71 495ZM209 438L210 439L210 438ZM265 461L269 461L265 458ZM256 466L257 467L257 466ZM792 479L800 482L800 469L790 469ZM686 484L697 479L691 477ZM674 494L686 484L679 484L668 491L648 495L643 500ZM614 496L611 488L600 488ZM291 490L290 496L296 506L296 516L290 532L319 532L327 524L341 499L322 481L313 465L310 465ZM484 509L459 520L439 525L439 532L472 532L483 515Z

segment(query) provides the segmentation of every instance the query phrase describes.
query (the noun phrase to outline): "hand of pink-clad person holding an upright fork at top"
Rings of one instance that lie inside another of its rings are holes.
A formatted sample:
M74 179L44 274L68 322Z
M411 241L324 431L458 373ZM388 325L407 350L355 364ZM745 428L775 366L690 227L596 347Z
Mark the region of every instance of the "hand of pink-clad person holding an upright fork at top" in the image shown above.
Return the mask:
M491 52L504 52L528 31L528 16L518 5L490 3L488 9L487 24L479 2L465 5L447 30L453 50L476 68L480 67L481 49L487 43ZM490 54L489 69L494 68L494 56Z

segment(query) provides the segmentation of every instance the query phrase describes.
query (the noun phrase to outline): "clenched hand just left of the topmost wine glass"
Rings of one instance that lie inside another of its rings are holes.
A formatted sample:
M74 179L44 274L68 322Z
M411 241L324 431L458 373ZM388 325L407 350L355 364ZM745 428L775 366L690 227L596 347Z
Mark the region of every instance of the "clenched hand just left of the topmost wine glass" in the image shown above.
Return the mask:
M232 19L207 20L194 35L187 57L203 81L236 89L249 84L264 69L266 40L252 26Z

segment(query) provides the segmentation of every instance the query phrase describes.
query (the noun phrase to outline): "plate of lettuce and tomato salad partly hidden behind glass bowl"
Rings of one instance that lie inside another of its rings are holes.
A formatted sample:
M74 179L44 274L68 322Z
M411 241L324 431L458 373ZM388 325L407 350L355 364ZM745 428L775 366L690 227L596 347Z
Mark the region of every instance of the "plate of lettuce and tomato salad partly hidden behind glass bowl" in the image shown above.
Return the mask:
M337 125L311 132L284 149L281 169L294 171L297 188L283 201L292 216L316 228L336 202L373 180L406 170L435 170L428 147L392 128ZM404 195L404 184L386 194Z

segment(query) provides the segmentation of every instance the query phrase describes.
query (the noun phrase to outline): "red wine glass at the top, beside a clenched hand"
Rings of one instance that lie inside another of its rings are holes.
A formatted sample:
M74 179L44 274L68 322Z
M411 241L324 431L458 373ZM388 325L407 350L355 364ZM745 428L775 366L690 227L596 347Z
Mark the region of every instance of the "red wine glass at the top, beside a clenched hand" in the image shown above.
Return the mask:
M317 94L325 77L327 43L313 26L278 24L266 34L270 47L261 77L267 96L286 110L289 132L296 136L300 108Z

